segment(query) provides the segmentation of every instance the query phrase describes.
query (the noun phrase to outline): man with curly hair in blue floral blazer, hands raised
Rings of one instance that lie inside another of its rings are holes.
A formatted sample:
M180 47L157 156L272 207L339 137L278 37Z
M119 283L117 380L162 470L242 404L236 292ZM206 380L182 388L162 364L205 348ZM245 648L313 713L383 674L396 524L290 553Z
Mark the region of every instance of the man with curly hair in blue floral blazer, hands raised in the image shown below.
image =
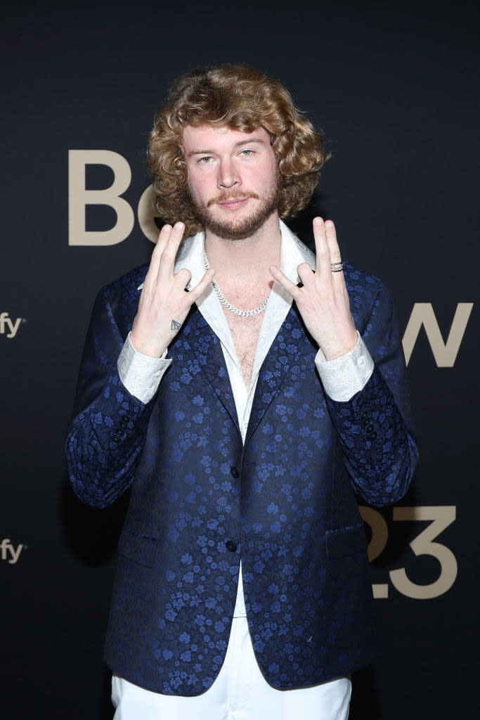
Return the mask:
M373 657L355 492L399 500L417 449L386 289L342 263L330 220L316 258L279 220L311 197L321 140L245 66L180 78L155 119L167 224L97 297L67 440L80 498L131 487L117 720L345 719Z

